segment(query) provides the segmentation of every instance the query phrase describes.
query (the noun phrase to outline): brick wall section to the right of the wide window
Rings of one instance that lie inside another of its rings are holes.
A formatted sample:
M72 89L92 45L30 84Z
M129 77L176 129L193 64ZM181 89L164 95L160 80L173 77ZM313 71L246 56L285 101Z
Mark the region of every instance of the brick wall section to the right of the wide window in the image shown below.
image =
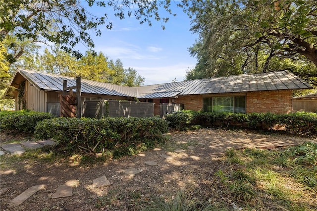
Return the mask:
M246 113L292 112L292 90L248 92Z

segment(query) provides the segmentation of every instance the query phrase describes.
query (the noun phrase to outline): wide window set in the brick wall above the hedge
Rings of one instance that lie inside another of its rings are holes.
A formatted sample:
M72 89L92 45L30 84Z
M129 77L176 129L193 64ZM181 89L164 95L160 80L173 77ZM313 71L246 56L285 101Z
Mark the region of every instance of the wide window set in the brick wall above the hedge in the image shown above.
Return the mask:
M204 98L205 112L246 112L246 97L231 96L231 97L213 97Z

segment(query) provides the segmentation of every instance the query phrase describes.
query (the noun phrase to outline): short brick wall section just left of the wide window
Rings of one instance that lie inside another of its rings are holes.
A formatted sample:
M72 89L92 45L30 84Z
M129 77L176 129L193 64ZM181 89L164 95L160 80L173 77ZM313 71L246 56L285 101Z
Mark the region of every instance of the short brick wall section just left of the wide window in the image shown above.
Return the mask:
M184 104L185 110L199 111L204 106L203 95L182 95L175 99L176 104Z

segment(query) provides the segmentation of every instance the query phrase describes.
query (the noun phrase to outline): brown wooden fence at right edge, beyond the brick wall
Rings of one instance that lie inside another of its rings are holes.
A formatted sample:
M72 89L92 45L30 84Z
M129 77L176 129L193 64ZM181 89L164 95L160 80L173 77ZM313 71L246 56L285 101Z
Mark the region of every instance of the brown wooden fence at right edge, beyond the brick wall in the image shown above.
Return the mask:
M293 112L296 111L317 112L317 94L293 98Z

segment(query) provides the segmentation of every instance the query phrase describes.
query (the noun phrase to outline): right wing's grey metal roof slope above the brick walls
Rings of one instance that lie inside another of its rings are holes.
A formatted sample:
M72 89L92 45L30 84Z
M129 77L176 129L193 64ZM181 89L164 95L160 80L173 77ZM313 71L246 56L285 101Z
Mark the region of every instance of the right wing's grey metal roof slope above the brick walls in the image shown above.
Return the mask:
M139 95L172 91L180 92L179 95L198 95L312 88L311 85L285 70L156 84L138 87L138 91Z

